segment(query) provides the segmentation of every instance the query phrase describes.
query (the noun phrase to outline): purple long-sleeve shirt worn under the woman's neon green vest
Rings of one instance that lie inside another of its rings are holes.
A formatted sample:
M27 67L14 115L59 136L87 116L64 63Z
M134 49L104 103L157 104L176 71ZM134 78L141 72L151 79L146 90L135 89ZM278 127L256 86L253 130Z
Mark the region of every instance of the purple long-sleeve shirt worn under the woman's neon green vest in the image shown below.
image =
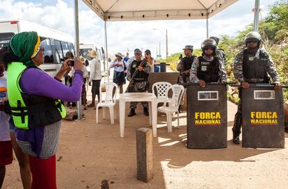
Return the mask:
M19 84L24 93L75 102L81 98L83 72L75 71L72 86L68 87L44 71L31 68L24 71ZM19 141L30 142L33 152L40 156L44 127L29 130L15 128L15 134Z

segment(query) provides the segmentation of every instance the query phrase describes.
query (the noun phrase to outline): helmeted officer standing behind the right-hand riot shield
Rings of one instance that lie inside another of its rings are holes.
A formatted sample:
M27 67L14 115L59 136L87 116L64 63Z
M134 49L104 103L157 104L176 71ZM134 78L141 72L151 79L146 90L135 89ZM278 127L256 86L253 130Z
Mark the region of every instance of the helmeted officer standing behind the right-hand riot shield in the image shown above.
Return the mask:
M239 89L238 110L234 118L233 143L239 144L239 135L242 125L242 98L241 90L249 87L250 83L269 83L268 74L273 79L275 89L281 88L278 73L271 57L266 51L259 49L261 35L253 31L245 37L246 49L238 53L234 60L234 77L241 83Z

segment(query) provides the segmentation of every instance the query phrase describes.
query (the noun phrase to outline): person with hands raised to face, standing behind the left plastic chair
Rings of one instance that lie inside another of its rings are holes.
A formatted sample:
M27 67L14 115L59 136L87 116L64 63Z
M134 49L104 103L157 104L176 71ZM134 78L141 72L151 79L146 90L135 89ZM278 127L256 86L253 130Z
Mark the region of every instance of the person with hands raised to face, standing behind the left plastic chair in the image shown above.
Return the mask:
M110 68L114 69L113 82L120 87L120 94L123 93L123 84L126 84L125 79L125 67L127 68L127 62L122 60L123 55L121 53L115 54L116 59L111 63ZM114 95L115 91L113 91Z

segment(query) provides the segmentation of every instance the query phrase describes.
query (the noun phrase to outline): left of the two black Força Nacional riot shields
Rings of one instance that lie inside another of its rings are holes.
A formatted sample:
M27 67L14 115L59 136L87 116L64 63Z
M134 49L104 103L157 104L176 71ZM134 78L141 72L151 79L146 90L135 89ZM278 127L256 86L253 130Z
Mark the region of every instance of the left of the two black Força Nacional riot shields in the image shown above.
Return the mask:
M187 147L227 147L226 84L187 84Z

